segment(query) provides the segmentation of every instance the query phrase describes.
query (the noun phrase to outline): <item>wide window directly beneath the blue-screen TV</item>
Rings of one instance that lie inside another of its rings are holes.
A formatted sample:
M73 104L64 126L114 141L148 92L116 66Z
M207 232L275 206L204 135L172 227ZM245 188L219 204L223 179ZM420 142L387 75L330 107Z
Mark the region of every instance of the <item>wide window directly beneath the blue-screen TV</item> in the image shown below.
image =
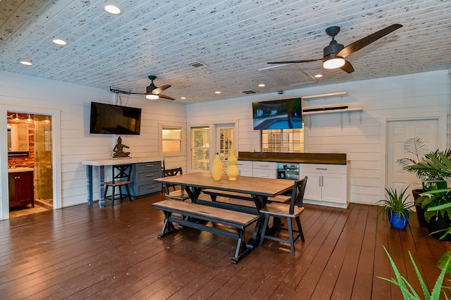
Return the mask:
M261 130L262 152L304 152L304 128Z

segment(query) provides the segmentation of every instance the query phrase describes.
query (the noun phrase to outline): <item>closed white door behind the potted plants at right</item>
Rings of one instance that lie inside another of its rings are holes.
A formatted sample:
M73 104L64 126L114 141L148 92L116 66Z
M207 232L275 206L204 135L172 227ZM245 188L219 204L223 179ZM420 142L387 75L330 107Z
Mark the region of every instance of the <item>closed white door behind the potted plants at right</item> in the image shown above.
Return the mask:
M421 180L402 170L397 159L409 157L404 152L404 143L412 137L419 137L428 146L429 151L438 149L438 119L393 120L388 121L387 135L387 184L400 191L408 185L410 189L421 189ZM413 157L409 157L414 159ZM409 193L410 194L410 193Z

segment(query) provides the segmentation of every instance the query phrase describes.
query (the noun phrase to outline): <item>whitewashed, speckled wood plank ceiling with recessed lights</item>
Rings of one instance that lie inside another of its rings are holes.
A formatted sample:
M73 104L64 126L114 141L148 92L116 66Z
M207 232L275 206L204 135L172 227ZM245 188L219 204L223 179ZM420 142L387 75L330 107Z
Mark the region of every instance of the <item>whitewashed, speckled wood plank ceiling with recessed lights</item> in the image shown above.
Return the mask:
M451 67L450 1L107 2L123 12L109 15L106 1L1 0L0 70L132 92L156 75L156 86L172 85L163 94L187 104ZM393 23L403 27L347 57L354 73L321 61L267 69L275 67L268 61L322 58L327 27L340 26L346 46ZM196 61L206 66L193 68Z

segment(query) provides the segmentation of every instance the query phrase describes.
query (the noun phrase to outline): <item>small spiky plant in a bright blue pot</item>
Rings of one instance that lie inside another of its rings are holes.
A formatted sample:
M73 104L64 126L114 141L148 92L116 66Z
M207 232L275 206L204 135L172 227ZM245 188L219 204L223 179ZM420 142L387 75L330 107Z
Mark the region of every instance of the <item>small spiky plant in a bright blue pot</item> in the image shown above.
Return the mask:
M385 199L376 202L377 205L383 206L379 214L386 211L390 225L397 229L405 229L407 227L409 214L412 213L411 208L414 206L414 202L407 201L408 195L404 196L408 188L402 189L399 194L396 189L385 188L387 192Z

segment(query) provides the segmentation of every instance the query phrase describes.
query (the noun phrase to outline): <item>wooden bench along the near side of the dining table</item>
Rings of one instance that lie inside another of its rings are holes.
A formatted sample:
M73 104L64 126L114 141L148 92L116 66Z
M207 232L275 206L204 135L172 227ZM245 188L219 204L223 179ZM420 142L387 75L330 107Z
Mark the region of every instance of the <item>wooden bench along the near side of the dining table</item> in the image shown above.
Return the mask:
M179 225L185 225L198 230L208 231L216 235L237 239L237 249L235 250L235 256L230 259L231 263L237 263L250 251L247 249L245 243L245 230L247 226L257 221L259 218L258 215L178 200L163 200L152 204L152 206L161 209L164 213L163 230L161 230L161 234L158 236L159 239L178 231L173 225L173 222L175 222ZM173 213L180 215L173 215ZM237 232L221 230L218 227L209 227L201 223L196 223L192 219L205 220L230 226L235 228Z

